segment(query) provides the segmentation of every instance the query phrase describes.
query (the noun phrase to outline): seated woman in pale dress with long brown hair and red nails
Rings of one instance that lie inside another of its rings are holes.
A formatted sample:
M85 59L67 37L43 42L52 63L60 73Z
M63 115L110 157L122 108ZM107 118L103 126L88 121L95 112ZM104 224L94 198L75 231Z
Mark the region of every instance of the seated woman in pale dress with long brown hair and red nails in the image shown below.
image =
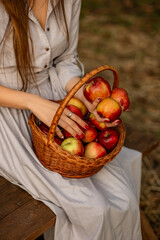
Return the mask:
M48 240L139 240L140 153L123 148L98 174L77 180L45 169L32 149L30 112L50 126L59 105L47 99L64 98L83 75L77 55L80 5L80 0L0 0L0 175L56 213ZM96 112L100 99L90 104L82 89L75 97L102 121ZM76 123L88 126L69 116L65 109L58 126L81 139ZM56 134L63 139L59 127Z

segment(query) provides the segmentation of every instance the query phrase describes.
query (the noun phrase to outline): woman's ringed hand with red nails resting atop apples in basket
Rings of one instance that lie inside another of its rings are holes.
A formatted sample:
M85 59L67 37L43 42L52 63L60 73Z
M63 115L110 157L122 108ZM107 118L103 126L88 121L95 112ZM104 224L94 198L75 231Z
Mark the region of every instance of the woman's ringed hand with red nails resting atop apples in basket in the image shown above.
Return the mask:
M58 103L33 95L32 101L30 101L30 104L28 105L28 109L33 112L38 119L40 119L48 127L51 126L52 119L59 107ZM59 119L58 126L67 130L73 137L82 139L84 137L84 133L77 124L82 126L84 129L88 128L88 125L76 114L72 113L70 118L68 117L69 114L70 111L65 108ZM58 126L56 128L56 134L58 137L63 139L64 136Z

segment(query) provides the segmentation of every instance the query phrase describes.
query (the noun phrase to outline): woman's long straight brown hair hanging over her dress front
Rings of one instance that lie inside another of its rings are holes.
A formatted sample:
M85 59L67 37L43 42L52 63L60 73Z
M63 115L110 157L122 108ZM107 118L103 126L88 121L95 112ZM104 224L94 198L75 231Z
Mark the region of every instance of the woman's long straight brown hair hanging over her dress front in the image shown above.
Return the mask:
M29 2L30 7L32 8L34 6L34 0L30 0ZM34 59L34 49L28 22L28 13L30 7L27 4L27 0L0 0L0 3L3 4L9 16L7 31L3 38L3 47L5 46L5 42L7 41L9 34L13 32L13 47L16 59L16 67L22 80L21 90L26 91L30 81L36 83L32 64ZM59 19L63 22L68 40L69 34L65 17L64 0L58 0L55 8L53 5L53 0L51 3L58 24Z

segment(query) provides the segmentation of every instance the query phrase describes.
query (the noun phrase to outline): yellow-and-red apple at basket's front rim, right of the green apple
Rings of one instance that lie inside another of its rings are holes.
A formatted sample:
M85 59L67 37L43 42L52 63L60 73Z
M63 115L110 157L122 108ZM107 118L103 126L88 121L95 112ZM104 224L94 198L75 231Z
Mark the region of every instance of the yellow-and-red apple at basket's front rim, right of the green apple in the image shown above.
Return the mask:
M85 146L84 157L99 158L107 155L106 149L98 142L90 142Z

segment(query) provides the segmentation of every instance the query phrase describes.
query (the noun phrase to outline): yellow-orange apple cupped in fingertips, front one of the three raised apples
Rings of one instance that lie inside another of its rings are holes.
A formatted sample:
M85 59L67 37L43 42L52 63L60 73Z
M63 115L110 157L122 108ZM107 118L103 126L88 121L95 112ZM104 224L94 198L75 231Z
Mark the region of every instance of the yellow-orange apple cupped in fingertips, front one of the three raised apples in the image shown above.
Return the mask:
M119 103L112 98L105 98L97 106L97 112L100 117L109 118L111 122L115 121L121 115Z

